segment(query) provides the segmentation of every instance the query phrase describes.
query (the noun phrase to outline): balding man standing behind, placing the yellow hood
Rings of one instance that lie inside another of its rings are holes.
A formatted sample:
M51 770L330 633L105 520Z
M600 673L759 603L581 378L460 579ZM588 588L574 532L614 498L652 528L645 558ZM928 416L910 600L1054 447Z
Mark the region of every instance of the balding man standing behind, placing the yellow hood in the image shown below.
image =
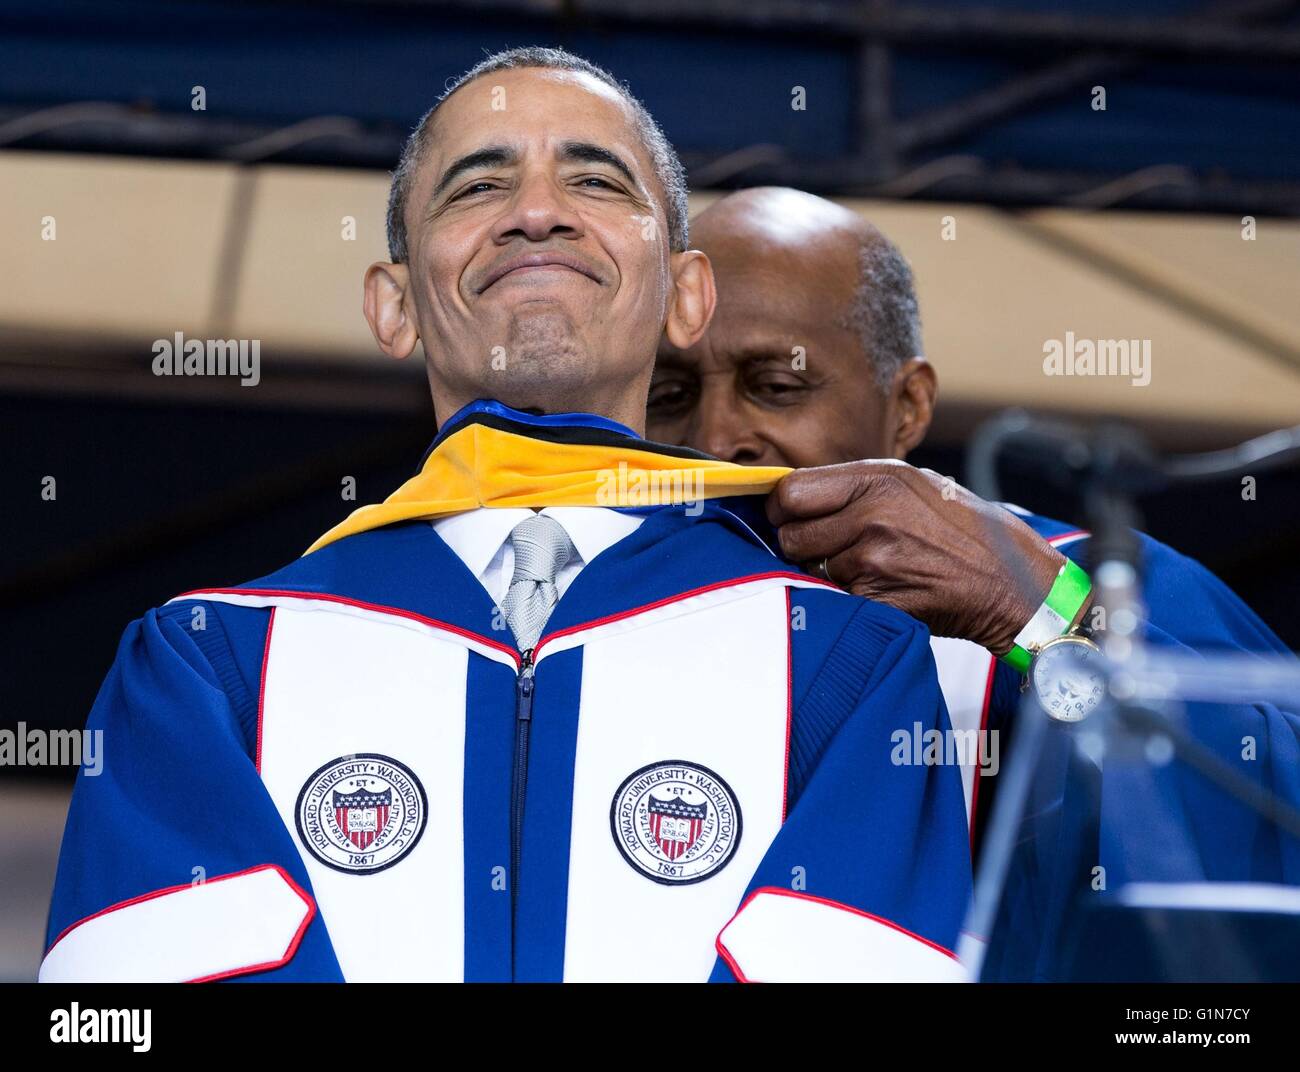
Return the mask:
M937 374L920 356L911 272L862 217L801 191L758 188L710 205L693 235L714 265L718 309L692 347L662 342L650 437L746 465L809 466L767 503L786 556L930 625L954 725L998 739L1018 713L1022 670L1040 665L1032 652L1017 667L1008 657L1054 578L1087 565L1088 534L1018 516L904 461L930 428ZM1286 652L1202 567L1147 537L1141 547L1150 644ZM1056 632L1075 642L1088 604L1078 600ZM1057 716L1086 715L1098 699L1076 694L1069 674L1035 673L1028 683ZM1232 773L1300 800L1295 713L1196 704L1188 725ZM1002 954L1009 975L1065 971L1052 963L1061 929L1126 881L1300 882L1300 843L1268 817L1186 764L1131 760L1108 756L1100 782L1084 763L1061 784L1053 778L1069 756L1043 761L1039 836L1026 842L1040 881L1036 893L1019 891L1020 946ZM972 826L982 771L996 773L967 754Z

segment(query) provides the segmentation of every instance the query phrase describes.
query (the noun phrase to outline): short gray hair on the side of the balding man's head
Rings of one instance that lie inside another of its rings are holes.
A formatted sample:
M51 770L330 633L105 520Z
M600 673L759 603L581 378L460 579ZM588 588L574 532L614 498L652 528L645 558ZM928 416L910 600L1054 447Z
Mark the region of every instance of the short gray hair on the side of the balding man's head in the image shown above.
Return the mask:
M858 251L858 287L846 320L862 339L881 391L889 389L904 363L922 355L911 268L884 235L864 239Z

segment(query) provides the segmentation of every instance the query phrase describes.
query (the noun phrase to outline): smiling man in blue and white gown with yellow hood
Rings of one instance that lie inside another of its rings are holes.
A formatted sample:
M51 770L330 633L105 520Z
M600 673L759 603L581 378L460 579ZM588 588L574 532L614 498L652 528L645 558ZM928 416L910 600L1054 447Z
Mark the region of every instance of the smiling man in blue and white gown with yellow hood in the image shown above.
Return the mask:
M754 534L783 469L641 438L656 343L714 307L685 212L566 53L421 122L365 316L422 342L438 438L299 561L129 628L43 978L959 972L961 777L896 761L948 729L926 629Z

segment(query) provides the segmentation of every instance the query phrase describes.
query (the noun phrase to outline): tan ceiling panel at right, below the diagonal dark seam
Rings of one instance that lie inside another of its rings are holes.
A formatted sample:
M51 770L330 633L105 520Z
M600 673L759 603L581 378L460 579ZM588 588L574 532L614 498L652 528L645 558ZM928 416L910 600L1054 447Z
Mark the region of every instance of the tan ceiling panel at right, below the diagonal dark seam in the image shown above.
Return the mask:
M1292 372L1219 322L1156 299L1119 274L1043 240L1014 217L970 205L850 203L889 234L916 273L927 356L940 398L1182 421L1292 424ZM944 238L945 217L956 230ZM1109 217L1076 214L1087 221ZM1200 221L1199 221L1200 222ZM1183 217L1165 217L1169 229ZM1205 233L1201 233L1202 238ZM1212 270L1216 248L1200 257ZM1292 270L1290 278L1295 281ZM1138 340L1150 348L1150 382L1128 376L1048 376L1049 340ZM1292 335L1292 339L1295 337Z

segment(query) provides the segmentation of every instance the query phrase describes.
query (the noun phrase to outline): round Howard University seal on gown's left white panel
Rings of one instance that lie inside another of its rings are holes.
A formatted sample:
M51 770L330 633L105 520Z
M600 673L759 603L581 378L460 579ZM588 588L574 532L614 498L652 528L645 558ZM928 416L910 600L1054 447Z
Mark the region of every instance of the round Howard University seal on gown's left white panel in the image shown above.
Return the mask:
M373 874L407 855L429 820L429 799L410 767L391 756L339 756L298 794L298 836L325 867Z

